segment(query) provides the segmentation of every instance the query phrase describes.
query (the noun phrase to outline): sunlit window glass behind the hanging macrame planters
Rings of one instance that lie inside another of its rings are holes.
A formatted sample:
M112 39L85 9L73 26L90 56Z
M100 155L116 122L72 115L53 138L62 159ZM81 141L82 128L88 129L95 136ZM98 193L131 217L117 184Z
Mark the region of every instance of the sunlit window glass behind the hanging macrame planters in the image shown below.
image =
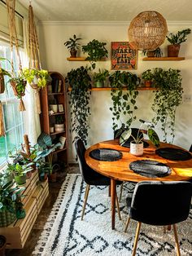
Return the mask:
M0 41L0 56L11 60L11 47L9 44ZM24 52L20 50L21 59ZM16 51L13 52L14 68L18 71ZM7 61L1 61L2 68L11 72L11 65ZM13 148L20 147L24 135L23 113L18 111L18 99L13 95L11 86L8 83L9 77L5 77L7 90L0 94L6 135L0 137L0 166L7 160L7 152Z

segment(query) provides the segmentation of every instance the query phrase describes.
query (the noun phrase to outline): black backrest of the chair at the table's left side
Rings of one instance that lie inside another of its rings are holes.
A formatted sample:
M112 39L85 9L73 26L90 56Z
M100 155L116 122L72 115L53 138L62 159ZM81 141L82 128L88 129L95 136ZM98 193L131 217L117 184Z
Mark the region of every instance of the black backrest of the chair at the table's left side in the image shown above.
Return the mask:
M79 167L81 171L81 176L85 180L85 183L89 183L89 178L91 177L93 170L86 164L86 161L85 161L86 148L82 139L76 139L75 148L76 148L76 155L78 158Z

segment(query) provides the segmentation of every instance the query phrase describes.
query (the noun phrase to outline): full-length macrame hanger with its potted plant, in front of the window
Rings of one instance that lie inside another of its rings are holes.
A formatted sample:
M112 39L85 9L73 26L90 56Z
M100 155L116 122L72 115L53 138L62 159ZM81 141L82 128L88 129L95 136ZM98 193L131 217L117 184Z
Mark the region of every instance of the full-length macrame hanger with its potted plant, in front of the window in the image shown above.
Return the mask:
M9 24L9 33L10 33L10 45L11 45L11 79L10 84L14 91L14 95L20 99L19 110L24 111L24 101L22 97L25 93L26 81L22 77L22 65L20 60L20 51L19 51L19 42L16 33L15 25L15 0L7 0L7 13L8 13L8 24ZM19 60L19 73L16 74L13 65L13 46L15 45L16 55Z

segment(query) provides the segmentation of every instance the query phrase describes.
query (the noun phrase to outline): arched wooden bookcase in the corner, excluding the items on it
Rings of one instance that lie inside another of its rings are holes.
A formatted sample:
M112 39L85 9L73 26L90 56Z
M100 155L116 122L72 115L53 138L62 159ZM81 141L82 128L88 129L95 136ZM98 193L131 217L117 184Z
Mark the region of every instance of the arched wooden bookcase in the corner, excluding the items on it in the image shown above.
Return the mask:
M64 77L58 72L50 72L50 77L52 78L51 86L52 92L48 91L48 86L40 91L40 101L41 101L41 131L50 135L55 141L59 141L59 137L65 137L65 145L63 149L56 150L54 152L53 162L63 162L65 166L68 166L68 117L67 117L67 92L65 88ZM57 89L58 81L61 84L59 92ZM55 101L55 104L63 104L63 112L49 113L49 108L51 101ZM64 130L54 131L50 133L50 126L55 126L56 117L63 117Z

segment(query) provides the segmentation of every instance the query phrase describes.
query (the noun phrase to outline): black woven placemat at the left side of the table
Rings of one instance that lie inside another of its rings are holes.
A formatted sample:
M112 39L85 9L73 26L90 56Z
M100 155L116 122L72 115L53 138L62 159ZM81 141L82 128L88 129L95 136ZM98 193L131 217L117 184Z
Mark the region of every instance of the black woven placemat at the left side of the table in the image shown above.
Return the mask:
M99 148L89 152L90 157L99 161L117 161L122 155L122 152L111 148Z

